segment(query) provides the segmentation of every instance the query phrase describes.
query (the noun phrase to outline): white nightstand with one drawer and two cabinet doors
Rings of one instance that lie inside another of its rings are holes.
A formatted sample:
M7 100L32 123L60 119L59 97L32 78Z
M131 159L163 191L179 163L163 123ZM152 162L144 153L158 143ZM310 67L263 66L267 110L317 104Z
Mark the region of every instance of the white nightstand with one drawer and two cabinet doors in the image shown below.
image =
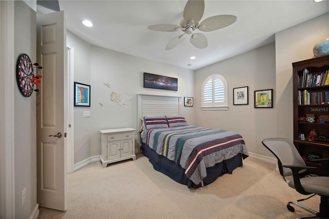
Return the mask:
M134 135L135 129L107 129L101 132L101 162L103 168L113 163L132 158L136 160Z

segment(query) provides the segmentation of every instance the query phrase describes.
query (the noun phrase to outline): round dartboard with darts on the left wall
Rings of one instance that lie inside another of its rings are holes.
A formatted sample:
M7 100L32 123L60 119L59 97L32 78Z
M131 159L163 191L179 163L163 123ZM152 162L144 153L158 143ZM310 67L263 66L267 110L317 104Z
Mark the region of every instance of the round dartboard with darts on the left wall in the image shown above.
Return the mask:
M20 92L24 97L32 95L33 81L33 66L27 54L20 54L17 59L16 79Z

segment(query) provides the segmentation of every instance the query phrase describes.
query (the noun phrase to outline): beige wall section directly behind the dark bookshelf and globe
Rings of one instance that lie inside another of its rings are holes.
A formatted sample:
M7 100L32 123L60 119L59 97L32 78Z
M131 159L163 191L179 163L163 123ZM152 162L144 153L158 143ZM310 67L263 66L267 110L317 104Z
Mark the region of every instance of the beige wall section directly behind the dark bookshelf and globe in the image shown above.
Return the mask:
M312 59L313 46L329 35L328 13L276 33L277 135L293 139L293 66ZM280 83L278 83L280 82Z

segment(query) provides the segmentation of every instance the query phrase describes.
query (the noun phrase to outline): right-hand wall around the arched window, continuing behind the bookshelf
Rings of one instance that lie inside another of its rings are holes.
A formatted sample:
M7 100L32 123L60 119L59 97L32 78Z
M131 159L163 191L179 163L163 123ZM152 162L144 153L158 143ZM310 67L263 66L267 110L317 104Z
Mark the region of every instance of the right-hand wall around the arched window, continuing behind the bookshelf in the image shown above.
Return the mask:
M293 67L291 63L313 58L313 46L329 33L328 13L276 33L275 44L251 50L195 71L196 125L236 131L245 138L249 152L272 155L261 139L293 139ZM223 75L229 87L228 111L201 111L203 81L212 74ZM249 105L232 103L234 87L249 86ZM254 90L273 88L271 109L253 107ZM237 125L239 124L239 125Z

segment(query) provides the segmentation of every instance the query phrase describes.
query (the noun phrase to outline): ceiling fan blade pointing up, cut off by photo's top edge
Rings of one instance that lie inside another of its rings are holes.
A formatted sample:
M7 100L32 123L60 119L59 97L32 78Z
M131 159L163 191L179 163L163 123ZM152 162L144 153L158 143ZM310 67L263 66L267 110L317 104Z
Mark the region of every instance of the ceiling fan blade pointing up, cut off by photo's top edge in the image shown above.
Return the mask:
M184 8L184 20L190 25L198 23L205 11L205 1L189 0Z

